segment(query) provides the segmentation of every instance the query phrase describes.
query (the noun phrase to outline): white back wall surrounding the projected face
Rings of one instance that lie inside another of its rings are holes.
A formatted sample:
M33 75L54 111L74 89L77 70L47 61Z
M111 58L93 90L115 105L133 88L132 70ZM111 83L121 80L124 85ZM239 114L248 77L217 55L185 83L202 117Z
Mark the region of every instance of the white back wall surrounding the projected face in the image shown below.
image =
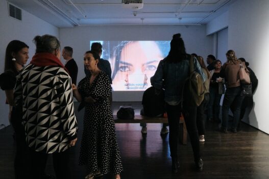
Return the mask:
M212 53L212 37L206 36L205 25L109 25L60 28L61 46L73 47L79 67L78 81L85 77L83 55L90 41L170 41L181 33L187 53L203 57ZM63 62L63 59L62 59ZM113 101L142 101L143 92L113 92Z

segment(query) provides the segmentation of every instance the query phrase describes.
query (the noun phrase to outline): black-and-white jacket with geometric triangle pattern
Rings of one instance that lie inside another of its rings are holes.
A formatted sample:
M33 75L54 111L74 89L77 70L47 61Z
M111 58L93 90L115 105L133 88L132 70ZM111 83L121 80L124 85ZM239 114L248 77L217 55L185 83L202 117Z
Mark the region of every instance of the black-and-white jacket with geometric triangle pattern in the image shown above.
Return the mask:
M63 152L77 137L71 78L63 68L29 64L17 76L14 101L22 103L26 141L33 150Z

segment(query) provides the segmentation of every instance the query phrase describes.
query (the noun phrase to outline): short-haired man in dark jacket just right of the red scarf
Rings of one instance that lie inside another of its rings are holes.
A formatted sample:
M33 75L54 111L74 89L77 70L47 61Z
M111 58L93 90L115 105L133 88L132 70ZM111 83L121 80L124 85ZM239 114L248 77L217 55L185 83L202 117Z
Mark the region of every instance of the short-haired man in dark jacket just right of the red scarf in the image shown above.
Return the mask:
M75 59L72 57L72 55L73 55L72 47L66 46L63 48L62 56L63 56L63 59L66 60L64 67L68 70L72 83L77 84L78 65Z

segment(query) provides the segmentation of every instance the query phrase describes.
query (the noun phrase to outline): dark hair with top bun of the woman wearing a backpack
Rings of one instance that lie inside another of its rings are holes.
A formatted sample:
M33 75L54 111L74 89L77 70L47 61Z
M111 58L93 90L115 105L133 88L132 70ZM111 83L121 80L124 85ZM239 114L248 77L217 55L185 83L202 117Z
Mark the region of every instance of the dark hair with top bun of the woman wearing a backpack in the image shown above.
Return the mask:
M166 56L168 63L177 63L186 59L187 53L181 34L175 34L170 42L170 51Z

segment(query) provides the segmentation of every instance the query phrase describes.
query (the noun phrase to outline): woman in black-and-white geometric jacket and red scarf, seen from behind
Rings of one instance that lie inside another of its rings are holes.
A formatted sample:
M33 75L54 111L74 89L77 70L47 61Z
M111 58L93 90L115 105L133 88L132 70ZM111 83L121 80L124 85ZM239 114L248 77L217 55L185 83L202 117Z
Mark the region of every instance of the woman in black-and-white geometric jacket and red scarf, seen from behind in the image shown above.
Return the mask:
M31 178L41 178L52 154L57 178L70 178L70 151L77 141L77 120L71 78L60 62L60 42L54 36L34 38L36 54L20 75L14 91L22 103L22 120L30 153Z

